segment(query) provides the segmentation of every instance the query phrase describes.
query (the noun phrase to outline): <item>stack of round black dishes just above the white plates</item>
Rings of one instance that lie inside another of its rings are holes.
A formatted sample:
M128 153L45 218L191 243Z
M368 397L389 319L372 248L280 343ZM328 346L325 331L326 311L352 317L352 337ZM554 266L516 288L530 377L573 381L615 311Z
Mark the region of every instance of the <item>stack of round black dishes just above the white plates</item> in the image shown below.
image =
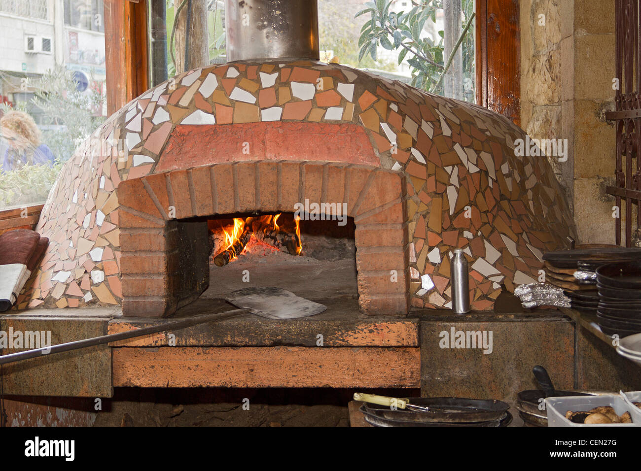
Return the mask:
M641 261L620 261L597 269L601 330L620 337L641 332Z

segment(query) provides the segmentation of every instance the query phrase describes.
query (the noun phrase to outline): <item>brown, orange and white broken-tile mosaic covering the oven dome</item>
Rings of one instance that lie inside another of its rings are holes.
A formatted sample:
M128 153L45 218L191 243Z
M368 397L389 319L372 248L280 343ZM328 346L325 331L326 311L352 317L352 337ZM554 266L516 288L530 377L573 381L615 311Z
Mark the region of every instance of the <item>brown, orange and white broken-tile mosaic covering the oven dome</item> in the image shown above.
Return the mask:
M37 231L50 244L19 308L120 304L119 183L156 173L178 128L217 133L262 122L360 126L379 166L407 176L412 306L450 305L456 247L469 259L472 308L487 310L497 283L533 281L542 252L575 236L551 166L515 156L524 131L501 115L342 65L212 65L126 104L76 149L42 210ZM344 138L319 134L310 144Z

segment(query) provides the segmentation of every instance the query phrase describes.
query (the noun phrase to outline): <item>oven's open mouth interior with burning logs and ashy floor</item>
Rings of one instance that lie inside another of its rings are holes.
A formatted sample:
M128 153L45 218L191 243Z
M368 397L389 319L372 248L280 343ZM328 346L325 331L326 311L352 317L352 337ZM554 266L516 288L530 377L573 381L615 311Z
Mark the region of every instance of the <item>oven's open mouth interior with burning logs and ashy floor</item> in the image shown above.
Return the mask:
M210 286L202 298L251 286L278 286L308 299L358 298L351 217L235 213L209 219L208 229Z

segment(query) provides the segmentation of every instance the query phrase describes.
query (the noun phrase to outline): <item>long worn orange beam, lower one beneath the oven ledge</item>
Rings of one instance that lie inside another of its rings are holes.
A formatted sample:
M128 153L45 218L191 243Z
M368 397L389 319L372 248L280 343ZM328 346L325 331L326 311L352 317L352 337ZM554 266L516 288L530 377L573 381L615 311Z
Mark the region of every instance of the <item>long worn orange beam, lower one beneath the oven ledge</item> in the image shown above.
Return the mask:
M140 388L418 388L420 349L114 348L113 386Z

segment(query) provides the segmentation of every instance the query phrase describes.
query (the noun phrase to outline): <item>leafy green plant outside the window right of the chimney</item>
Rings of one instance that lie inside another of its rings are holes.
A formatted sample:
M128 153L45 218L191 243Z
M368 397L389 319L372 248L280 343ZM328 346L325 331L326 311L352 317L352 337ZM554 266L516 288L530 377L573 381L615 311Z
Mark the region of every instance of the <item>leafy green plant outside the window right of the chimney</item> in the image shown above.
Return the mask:
M412 71L411 84L415 87L442 94L442 78L458 47L463 53L463 76L466 99L473 99L469 85L474 78L474 35L470 29L474 19L474 1L462 0L462 34L449 58L444 58L444 31L438 31L438 41L424 34L426 22L436 23L437 11L442 10L443 0L412 1L408 12L390 12L392 1L375 0L365 4L356 17L370 13L371 18L361 28L358 39L359 60L368 55L376 60L378 45L388 51L399 50L398 63L407 58Z

